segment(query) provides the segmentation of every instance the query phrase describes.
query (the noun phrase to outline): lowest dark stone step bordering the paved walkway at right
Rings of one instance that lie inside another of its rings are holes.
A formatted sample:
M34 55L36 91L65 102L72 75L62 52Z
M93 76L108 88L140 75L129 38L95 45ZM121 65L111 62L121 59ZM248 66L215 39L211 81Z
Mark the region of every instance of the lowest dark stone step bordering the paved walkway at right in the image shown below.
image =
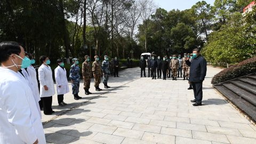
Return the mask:
M225 95L227 99L233 102L238 108L243 110L247 115L256 121L256 107L252 103L243 100L236 93L230 91L225 86L214 86L220 93Z

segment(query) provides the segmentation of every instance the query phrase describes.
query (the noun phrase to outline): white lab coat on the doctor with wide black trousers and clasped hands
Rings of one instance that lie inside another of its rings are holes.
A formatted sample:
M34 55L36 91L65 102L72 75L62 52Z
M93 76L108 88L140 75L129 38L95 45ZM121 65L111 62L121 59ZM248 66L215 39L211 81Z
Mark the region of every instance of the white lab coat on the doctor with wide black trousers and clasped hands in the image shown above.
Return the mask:
M54 83L52 79L52 69L50 66L45 66L42 64L38 68L38 79L40 82L40 97L51 97L52 95L55 94L54 90ZM44 90L44 85L48 87L48 90Z

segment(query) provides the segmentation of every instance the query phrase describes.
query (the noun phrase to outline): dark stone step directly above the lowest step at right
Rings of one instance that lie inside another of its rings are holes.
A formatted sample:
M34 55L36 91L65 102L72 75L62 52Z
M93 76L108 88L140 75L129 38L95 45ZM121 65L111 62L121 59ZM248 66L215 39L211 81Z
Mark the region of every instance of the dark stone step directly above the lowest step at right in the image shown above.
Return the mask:
M225 83L223 84L223 86L227 87L227 89L229 89L230 91L236 93L237 95L239 95L240 97L242 97L243 99L249 101L252 103L252 105L256 106L256 95L252 94L244 89L242 89L241 87L234 85L232 83Z

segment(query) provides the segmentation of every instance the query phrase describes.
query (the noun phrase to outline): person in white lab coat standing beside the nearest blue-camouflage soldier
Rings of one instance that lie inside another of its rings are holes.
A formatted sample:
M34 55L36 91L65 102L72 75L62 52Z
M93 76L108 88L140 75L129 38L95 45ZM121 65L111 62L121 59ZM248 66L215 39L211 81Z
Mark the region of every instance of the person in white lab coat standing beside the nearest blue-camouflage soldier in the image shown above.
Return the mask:
M54 69L54 76L55 76L55 81L57 83L57 93L58 93L58 103L59 106L63 107L67 105L63 101L64 99L64 94L69 92L69 87L68 87L68 79L67 79L67 71L64 68L64 62L62 59L57 60L58 67Z

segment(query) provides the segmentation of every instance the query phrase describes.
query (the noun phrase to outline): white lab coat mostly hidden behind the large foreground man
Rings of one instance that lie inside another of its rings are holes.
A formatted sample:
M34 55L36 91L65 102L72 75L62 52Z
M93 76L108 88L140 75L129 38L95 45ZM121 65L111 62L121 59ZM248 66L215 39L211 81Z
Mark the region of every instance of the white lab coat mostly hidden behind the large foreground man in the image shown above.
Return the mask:
M26 69L22 69L22 74L25 76L25 78L27 79L28 85L33 93L35 102L36 102L36 107L38 110L38 113L40 115L40 117L42 118L42 114L41 114L41 109L39 106L38 101L40 101L40 95L39 95L39 90L38 90L38 83L37 83L37 79L36 79L36 70L34 69L33 66L29 66Z

